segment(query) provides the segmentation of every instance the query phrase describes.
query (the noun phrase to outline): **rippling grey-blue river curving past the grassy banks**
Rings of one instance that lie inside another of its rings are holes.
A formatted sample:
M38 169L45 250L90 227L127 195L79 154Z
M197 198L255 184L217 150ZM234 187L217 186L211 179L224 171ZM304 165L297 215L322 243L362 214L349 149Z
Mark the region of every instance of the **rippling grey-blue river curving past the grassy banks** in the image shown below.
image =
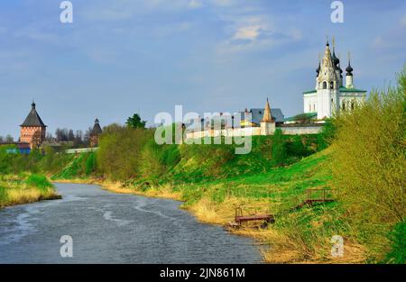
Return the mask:
M0 263L262 260L252 239L198 223L179 208L180 202L114 194L92 185L56 186L61 200L0 210ZM60 255L60 248L67 246L60 242L64 235L72 239L72 257Z

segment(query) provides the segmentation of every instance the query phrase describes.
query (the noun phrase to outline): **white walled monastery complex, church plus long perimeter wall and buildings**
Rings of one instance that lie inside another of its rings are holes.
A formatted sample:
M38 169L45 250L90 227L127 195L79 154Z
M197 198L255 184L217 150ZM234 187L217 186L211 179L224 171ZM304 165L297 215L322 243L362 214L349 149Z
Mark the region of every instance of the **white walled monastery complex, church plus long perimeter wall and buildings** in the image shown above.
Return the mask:
M327 42L324 57L318 62L316 86L313 90L303 92L304 114L285 118L281 109L271 108L267 100L265 108L245 109L245 112L229 116L229 119L226 114L208 120L198 118L191 123L192 126L188 126L187 139L272 135L277 128L286 135L317 134L322 130L326 118L339 111L351 111L356 105L364 103L366 91L355 88L353 70L348 54L344 85L340 60L334 46L331 53ZM220 120L217 123L221 124L219 128L213 127L216 120Z

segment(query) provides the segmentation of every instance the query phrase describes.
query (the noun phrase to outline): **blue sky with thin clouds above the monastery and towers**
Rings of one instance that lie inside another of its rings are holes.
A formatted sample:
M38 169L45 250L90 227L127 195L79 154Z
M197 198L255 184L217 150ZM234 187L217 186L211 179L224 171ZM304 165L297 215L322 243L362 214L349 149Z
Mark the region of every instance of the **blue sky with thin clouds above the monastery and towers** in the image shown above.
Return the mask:
M355 87L393 85L406 61L406 2L347 0L61 0L0 2L0 135L19 135L32 99L48 131L125 123L140 114L303 111L327 37Z

